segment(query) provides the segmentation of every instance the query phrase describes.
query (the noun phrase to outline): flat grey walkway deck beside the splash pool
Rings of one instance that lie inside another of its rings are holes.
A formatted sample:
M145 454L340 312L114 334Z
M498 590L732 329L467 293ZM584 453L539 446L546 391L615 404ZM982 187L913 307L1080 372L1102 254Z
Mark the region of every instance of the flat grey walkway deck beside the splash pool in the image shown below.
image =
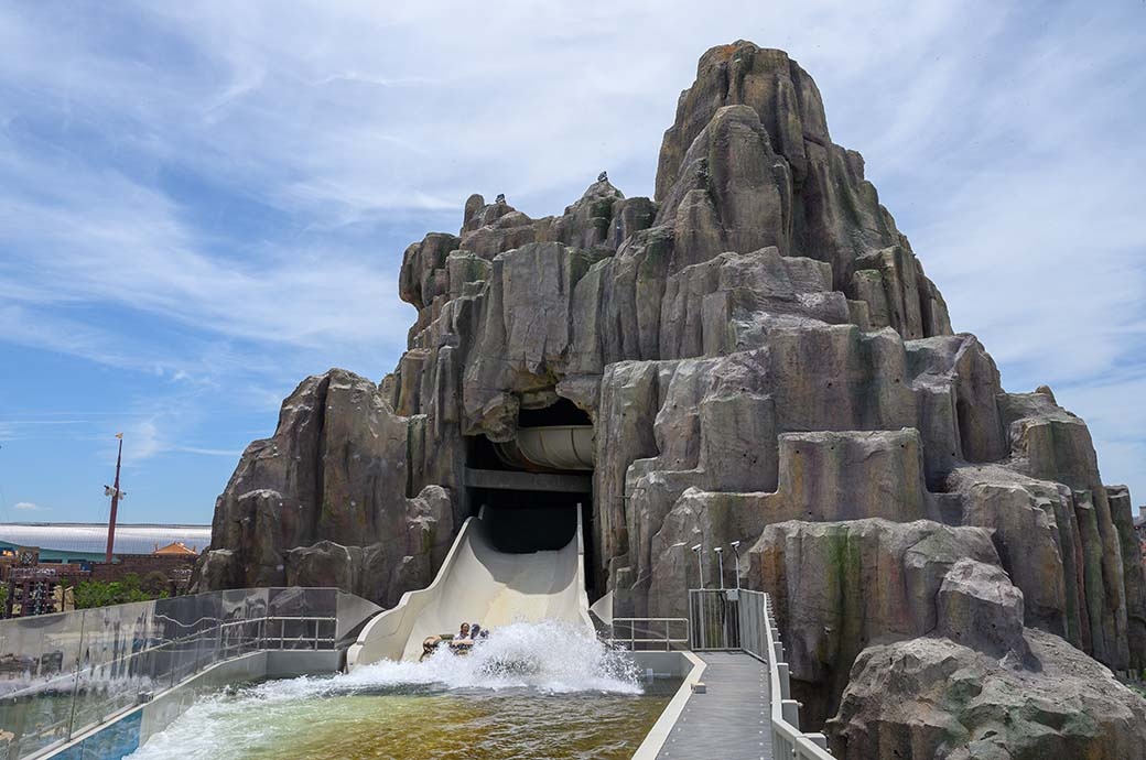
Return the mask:
M706 694L684 705L657 760L772 760L768 666L743 652L694 652Z

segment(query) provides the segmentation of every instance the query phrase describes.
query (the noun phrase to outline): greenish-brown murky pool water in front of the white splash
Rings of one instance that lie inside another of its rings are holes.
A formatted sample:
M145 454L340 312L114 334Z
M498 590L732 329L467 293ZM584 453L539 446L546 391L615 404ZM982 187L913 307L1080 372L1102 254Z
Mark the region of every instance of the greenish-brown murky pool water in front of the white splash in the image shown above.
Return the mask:
M133 760L627 759L678 683L644 695L421 690L202 700Z

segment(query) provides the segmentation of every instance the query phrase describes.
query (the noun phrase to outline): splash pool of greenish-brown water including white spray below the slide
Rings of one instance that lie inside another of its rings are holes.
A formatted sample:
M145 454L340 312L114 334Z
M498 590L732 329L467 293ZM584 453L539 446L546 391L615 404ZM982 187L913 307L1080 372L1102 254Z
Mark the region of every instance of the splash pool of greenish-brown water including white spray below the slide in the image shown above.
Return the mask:
M466 657L204 696L131 758L621 759L677 685L563 624L515 624Z

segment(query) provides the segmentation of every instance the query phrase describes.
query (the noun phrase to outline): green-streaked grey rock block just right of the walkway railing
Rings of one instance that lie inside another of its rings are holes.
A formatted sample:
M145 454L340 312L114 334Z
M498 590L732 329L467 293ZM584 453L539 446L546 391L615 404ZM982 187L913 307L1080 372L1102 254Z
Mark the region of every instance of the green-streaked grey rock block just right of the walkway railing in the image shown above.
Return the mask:
M813 724L835 712L851 665L869 644L967 622L975 605L953 598L968 595L966 586L948 583L953 566L998 563L982 528L886 519L775 523L749 558L749 585L772 594L795 698ZM944 588L951 597L945 604ZM1019 600L1021 628L1021 594ZM960 604L958 614L941 617Z

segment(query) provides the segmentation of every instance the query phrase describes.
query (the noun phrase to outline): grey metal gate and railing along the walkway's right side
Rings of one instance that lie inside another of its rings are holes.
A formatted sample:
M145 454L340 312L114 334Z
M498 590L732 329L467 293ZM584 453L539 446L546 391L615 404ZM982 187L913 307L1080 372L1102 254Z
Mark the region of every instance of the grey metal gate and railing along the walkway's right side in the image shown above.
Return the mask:
M744 589L691 589L689 620L694 634L693 650L744 651L768 664L772 757L832 760L823 734L800 730L800 703L792 699L784 644L768 594Z

